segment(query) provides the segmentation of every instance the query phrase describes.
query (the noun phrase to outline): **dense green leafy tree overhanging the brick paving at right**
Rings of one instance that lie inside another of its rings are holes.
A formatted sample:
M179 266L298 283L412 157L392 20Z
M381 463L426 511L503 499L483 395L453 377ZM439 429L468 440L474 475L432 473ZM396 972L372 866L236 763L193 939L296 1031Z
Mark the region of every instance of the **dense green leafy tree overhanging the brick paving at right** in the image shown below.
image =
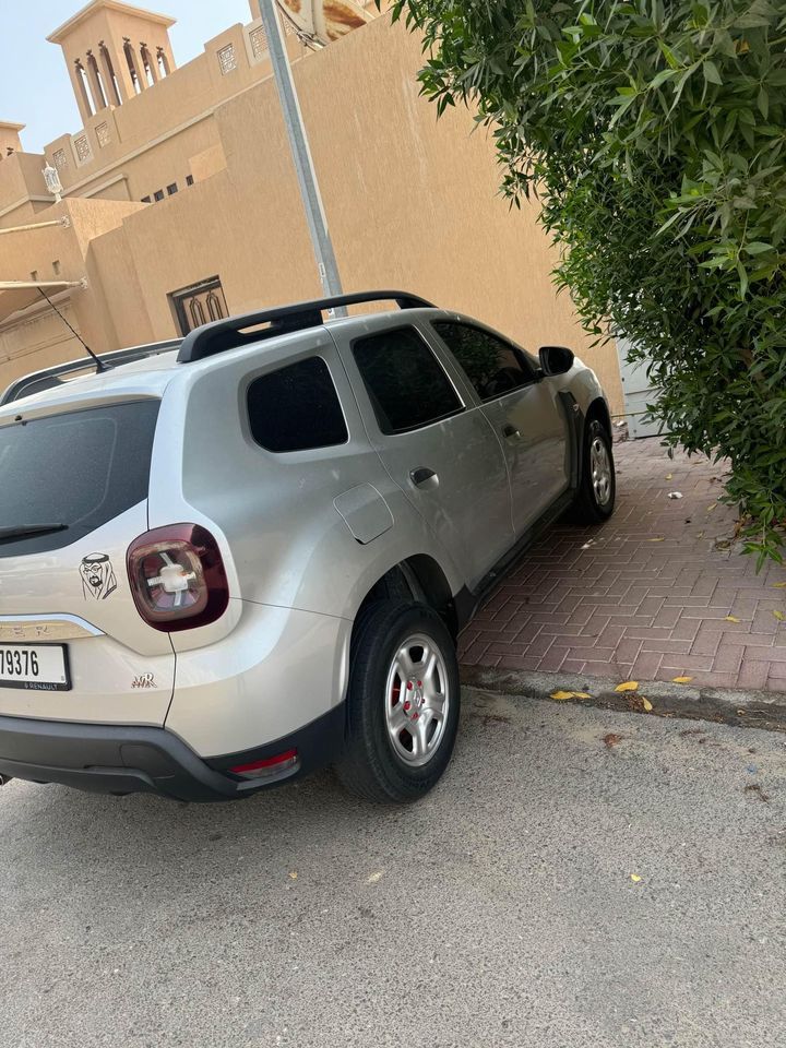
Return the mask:
M585 326L652 360L671 443L728 458L747 548L786 521L786 0L395 0L424 93L493 131ZM607 326L610 324L610 327Z

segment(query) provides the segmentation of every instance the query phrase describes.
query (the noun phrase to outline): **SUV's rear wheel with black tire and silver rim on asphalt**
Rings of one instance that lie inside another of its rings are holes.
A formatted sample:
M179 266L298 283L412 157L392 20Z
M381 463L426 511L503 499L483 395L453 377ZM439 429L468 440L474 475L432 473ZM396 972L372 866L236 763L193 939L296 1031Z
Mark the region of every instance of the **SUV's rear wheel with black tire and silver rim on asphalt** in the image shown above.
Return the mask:
M409 803L446 769L458 728L458 662L425 604L383 600L356 626L342 784L376 803Z

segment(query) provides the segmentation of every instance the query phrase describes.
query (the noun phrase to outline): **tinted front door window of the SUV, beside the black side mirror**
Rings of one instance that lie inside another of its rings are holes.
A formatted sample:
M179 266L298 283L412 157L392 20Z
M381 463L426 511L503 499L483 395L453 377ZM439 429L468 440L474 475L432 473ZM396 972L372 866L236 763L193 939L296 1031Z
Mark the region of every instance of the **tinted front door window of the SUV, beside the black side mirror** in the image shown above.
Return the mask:
M534 381L529 361L510 343L469 324L437 323L433 326L481 400L503 396Z

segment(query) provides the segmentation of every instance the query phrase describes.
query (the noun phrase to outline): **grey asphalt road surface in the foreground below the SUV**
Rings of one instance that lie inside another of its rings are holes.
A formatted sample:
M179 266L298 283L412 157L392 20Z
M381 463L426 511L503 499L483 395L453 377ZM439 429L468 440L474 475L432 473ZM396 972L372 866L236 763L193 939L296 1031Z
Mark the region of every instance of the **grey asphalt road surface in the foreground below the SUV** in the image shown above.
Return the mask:
M786 736L535 701L403 810L11 783L2 1045L784 1046L785 860Z

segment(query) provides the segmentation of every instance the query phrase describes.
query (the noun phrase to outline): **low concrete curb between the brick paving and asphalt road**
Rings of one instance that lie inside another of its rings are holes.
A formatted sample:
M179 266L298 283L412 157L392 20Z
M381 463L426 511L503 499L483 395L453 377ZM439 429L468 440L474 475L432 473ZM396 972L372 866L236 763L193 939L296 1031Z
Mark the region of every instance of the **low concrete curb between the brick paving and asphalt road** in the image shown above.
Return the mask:
M461 679L463 684L471 688L504 695L526 695L552 702L550 695L555 691L581 691L592 698L564 701L602 710L713 720L716 724L786 733L786 692L736 691L663 681L640 681L638 691L618 692L615 688L620 681L608 677L527 674L487 666L462 666ZM643 698L650 700L652 711L645 710Z

